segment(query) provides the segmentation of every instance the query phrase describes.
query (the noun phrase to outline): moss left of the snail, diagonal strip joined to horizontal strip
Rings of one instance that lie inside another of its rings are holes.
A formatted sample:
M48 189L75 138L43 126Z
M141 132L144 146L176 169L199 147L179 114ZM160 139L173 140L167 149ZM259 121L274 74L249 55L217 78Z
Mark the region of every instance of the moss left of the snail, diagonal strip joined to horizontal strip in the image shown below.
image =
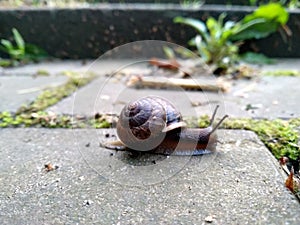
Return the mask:
M55 115L43 110L69 96L79 87L92 81L96 76L93 73L83 75L70 71L64 72L64 75L69 77L67 83L45 90L29 105L21 106L14 115L10 112L0 112L0 127L73 127L72 116ZM74 125L75 127L84 127L81 120L75 121ZM100 127L104 127L104 124Z

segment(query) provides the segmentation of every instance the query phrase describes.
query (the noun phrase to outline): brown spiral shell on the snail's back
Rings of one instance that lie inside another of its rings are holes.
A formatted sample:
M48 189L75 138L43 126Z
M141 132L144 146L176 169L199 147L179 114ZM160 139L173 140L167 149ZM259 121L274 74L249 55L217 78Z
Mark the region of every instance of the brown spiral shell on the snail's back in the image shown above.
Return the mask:
M117 134L129 148L149 151L164 140L167 131L184 125L172 103L161 97L147 96L123 108Z

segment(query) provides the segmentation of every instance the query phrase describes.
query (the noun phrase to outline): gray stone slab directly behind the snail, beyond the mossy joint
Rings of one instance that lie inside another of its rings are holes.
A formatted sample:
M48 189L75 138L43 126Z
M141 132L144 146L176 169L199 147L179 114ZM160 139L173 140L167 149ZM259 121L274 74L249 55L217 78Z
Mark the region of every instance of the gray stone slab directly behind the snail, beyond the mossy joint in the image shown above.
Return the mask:
M130 64L130 61L109 61L110 66L104 67L107 61L95 62L89 70L102 73L99 79L81 88L70 96L50 107L56 113L94 115L100 113L118 114L125 103L146 95L159 95L171 100L182 112L184 117L211 115L214 105L221 105L219 115L250 118L293 118L300 116L298 99L300 98L299 77L263 76L252 81L237 80L229 93L213 93L199 91L133 89L126 86L126 77L103 76L112 71L119 71L122 64L124 70L139 67L148 70L145 64ZM115 62L115 63L112 63ZM263 66L263 71L276 69L300 70L298 59L282 60L273 66ZM101 69L100 69L101 68ZM137 71L139 71L137 70ZM122 71L122 70L121 70ZM194 76L198 79L198 76ZM193 107L191 103L204 103ZM210 102L210 104L207 104Z

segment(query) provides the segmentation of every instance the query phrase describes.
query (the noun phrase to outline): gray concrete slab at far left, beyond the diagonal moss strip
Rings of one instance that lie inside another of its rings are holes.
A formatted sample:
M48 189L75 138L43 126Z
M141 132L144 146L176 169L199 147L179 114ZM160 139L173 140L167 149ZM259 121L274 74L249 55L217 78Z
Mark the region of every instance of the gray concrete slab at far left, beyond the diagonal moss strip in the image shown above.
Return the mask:
M64 84L66 76L0 76L0 111L15 112L45 89Z

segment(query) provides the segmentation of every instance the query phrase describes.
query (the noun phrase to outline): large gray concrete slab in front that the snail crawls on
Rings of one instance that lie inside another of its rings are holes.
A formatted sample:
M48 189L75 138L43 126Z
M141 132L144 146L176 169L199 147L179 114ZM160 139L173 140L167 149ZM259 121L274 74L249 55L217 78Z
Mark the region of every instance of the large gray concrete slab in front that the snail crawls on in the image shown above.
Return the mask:
M300 222L299 202L252 132L220 130L217 153L155 163L100 148L113 133L2 129L0 223ZM45 172L47 163L59 168Z

